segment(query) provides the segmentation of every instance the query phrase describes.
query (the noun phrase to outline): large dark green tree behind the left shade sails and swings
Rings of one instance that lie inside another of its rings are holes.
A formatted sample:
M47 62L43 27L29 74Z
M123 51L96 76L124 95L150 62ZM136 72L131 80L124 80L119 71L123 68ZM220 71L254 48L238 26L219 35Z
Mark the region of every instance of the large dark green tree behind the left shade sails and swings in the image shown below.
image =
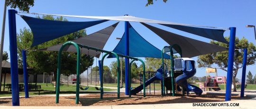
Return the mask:
M38 17L40 18L40 17ZM53 16L43 16L44 19L67 21L63 17L53 18ZM32 44L33 34L30 29L23 28L17 35L18 45L18 65L22 66L22 49L28 49L27 51L27 67L32 68L30 73L54 73L56 81L57 73L57 56L58 52L49 51L34 51L39 48L45 48L57 44L63 44L64 42L86 36L85 29L74 32L72 34L48 41L46 43L34 46L30 48ZM81 72L87 70L93 63L93 57L81 54ZM61 58L61 73L64 75L76 74L76 53L63 52Z

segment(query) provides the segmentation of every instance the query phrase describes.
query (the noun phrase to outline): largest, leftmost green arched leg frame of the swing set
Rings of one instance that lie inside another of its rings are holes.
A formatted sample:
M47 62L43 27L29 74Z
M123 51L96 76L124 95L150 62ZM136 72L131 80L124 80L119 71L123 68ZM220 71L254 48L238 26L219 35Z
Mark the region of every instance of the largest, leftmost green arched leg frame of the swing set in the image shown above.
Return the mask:
M61 72L61 53L66 45L74 45L77 51L77 62L76 62L76 94L75 94L75 103L79 103L79 82L80 82L80 49L79 46L72 42L68 41L64 43L58 53L58 68L57 68L57 83L56 83L56 103L59 103L60 95L60 72Z

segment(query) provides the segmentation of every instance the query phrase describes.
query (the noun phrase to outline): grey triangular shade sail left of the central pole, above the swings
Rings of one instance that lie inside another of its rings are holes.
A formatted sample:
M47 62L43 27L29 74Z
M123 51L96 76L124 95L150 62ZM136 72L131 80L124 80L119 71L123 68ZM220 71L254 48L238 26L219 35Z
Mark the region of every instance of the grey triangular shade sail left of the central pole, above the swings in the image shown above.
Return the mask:
M87 45L91 47L96 47L99 49L103 49L105 46L106 42L108 41L110 35L114 31L114 29L117 27L118 23L115 23L114 25L111 25L110 27L106 27L98 32L92 33L88 36L83 36L80 38L77 38L75 40L72 40L73 42L81 45ZM42 51L59 51L61 48L62 44L59 45L54 45L51 47L46 47L38 50ZM76 53L76 48L73 45L67 45L64 47L63 51L66 52L73 52ZM87 48L82 48L81 50L82 54L88 54L88 49ZM100 57L101 52L96 52L94 50L89 50L89 55L94 56L94 57Z

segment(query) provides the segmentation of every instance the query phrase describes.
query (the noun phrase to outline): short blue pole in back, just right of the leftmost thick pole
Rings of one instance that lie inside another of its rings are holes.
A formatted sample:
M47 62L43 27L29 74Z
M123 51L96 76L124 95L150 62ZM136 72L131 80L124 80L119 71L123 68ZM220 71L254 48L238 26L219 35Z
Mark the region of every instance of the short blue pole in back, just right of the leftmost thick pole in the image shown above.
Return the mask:
M27 87L27 55L26 50L22 50L22 62L23 62L23 77L24 77L24 91L25 98L29 98L28 87Z

